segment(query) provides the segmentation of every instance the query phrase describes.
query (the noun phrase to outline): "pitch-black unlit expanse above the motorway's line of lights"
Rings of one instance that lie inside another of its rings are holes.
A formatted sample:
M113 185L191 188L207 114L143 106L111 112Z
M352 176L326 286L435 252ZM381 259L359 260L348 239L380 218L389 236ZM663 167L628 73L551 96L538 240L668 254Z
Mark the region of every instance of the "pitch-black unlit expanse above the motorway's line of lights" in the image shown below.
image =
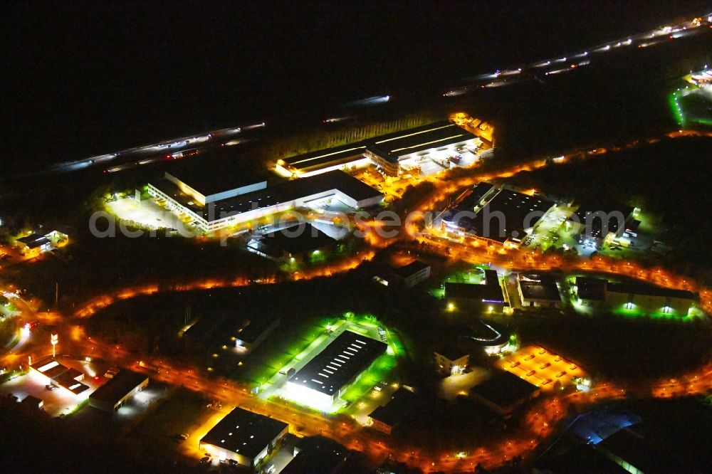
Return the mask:
M318 115L368 95L437 93L710 7L324 3L4 4L5 157L78 158L276 111Z

